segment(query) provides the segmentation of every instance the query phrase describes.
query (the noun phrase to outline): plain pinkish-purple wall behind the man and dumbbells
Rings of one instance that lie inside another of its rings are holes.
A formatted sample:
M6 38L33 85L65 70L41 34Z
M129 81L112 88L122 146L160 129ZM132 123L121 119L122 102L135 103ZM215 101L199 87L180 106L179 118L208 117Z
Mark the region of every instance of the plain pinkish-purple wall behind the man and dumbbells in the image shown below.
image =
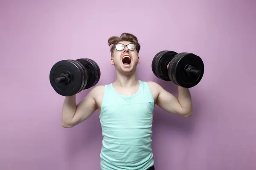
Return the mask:
M122 32L142 45L138 79L172 94L177 86L151 71L158 51L192 52L205 64L190 89L194 116L155 107L156 170L255 170L255 8L253 0L1 0L0 170L100 169L98 111L61 127L64 97L50 86L49 71L59 60L89 57L102 71L98 85L111 83L107 40Z

